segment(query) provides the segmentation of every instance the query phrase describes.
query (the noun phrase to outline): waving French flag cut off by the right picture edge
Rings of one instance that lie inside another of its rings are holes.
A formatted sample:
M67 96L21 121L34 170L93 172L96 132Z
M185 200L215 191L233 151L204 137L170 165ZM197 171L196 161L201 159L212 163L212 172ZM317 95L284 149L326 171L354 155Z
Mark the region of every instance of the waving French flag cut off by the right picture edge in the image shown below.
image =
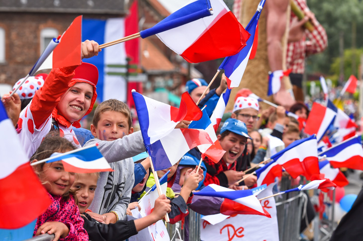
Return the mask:
M326 159L335 168L347 167L363 170L363 148L361 140L362 136L353 137L319 155L325 155Z

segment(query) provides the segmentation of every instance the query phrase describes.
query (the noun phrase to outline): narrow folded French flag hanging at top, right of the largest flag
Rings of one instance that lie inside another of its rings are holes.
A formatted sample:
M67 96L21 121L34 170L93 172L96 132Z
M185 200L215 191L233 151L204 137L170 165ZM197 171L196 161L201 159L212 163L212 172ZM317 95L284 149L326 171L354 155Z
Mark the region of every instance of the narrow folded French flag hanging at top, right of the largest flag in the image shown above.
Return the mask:
M265 0L262 0L257 7L255 15L253 15L251 21L247 24L246 30L251 34L251 36L246 41L246 47L244 47L239 53L226 57L218 68L224 70L229 88L240 85L250 56L255 56L258 42L258 22L264 5Z

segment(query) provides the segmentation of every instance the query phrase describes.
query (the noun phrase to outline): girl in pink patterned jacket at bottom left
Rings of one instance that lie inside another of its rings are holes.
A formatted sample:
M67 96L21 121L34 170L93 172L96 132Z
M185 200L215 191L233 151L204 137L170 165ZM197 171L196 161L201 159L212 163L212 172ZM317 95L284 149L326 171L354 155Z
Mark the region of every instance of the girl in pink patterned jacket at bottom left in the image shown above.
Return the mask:
M43 140L32 160L36 162L49 158L55 152L65 153L74 149L71 142L51 133ZM62 161L34 165L34 171L49 192L52 204L38 217L33 235L54 234L54 241L60 238L64 241L88 241L84 221L70 191L76 174L65 171Z

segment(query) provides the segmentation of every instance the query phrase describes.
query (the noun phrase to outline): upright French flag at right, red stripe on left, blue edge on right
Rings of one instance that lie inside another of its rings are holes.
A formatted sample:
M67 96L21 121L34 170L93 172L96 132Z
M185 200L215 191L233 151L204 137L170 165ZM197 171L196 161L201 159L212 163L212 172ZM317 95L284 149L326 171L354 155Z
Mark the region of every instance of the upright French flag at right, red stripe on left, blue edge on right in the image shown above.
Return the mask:
M336 115L337 108L330 106L329 102L328 107L314 102L306 121L305 133L309 135L316 134L316 139L320 142L329 126L334 123Z

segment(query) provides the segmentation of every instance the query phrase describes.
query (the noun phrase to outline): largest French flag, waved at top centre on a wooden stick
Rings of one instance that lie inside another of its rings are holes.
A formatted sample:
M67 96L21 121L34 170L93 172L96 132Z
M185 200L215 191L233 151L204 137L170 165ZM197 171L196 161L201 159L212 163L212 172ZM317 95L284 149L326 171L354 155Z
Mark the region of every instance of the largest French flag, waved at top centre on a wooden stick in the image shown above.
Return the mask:
M212 16L199 19L199 16L192 16L195 21L187 23L181 21L182 25L174 26L174 21L179 22L179 18L194 12L194 8L205 12L210 6L213 9ZM168 27L166 31L149 29L150 31L141 31L140 35L145 38L154 32L159 32L158 38L190 63L234 55L246 46L246 39L249 36L223 0L210 0L210 5L207 0L191 0L155 27L169 25L169 22L172 27Z

